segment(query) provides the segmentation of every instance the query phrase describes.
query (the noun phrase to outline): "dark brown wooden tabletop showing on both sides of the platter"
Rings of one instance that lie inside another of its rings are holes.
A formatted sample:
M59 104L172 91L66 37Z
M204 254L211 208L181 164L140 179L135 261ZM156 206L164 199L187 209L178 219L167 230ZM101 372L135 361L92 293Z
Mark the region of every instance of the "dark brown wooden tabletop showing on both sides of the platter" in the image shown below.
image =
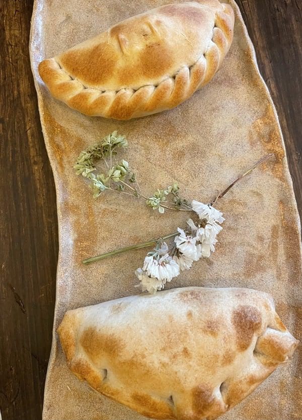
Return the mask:
M302 215L302 3L238 3L277 106ZM29 63L32 0L0 7L0 409L4 420L40 420L55 298L55 190Z

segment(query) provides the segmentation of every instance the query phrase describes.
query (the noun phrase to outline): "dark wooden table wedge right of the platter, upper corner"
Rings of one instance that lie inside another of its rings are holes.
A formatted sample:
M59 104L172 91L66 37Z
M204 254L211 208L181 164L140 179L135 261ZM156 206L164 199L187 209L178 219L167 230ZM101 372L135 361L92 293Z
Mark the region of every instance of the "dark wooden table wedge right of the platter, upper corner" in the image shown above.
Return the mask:
M277 108L302 218L302 2L238 0L260 72Z

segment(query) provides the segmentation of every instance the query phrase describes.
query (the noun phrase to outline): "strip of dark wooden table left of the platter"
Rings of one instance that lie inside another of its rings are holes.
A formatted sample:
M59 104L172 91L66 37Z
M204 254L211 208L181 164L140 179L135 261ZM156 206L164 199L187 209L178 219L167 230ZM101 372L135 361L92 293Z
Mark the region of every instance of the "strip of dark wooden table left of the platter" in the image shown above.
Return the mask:
M4 420L39 420L55 297L56 199L29 62L32 1L0 5L0 409Z

